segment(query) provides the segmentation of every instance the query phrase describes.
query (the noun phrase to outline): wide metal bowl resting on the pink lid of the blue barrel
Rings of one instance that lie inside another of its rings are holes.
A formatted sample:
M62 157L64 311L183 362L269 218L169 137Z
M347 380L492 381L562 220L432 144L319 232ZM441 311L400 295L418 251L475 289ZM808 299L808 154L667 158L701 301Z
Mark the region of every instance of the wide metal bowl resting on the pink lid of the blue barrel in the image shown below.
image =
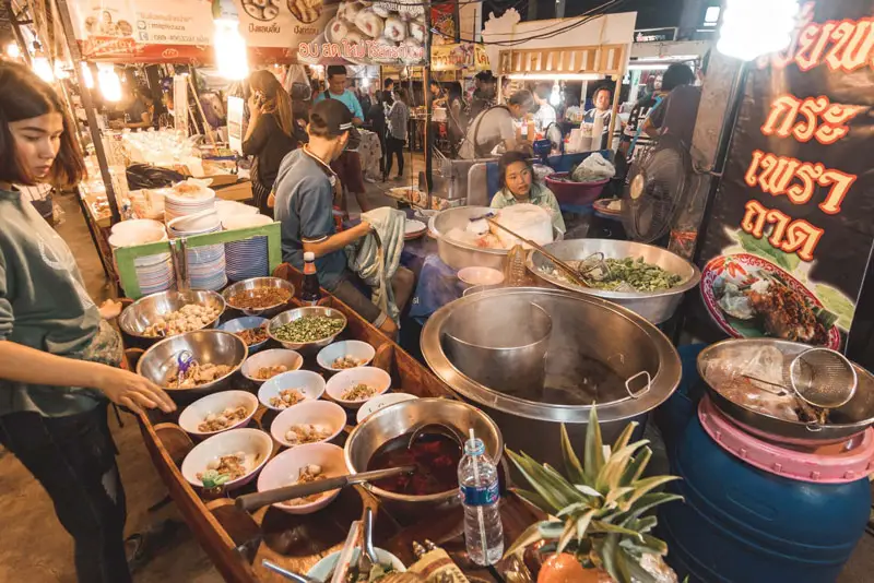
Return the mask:
M862 367L853 364L859 383L855 395L849 403L829 413L829 421L823 426L790 421L747 408L735 403L719 392L719 386L713 382L714 369L718 362L736 360L739 365L751 359L752 354L764 347L775 347L783 353L784 357L792 359L804 350L810 349L806 344L776 338L746 338L727 340L708 346L698 355L698 373L701 377L713 403L722 413L743 429L770 441L778 440L800 447L819 447L828 443L840 443L863 432L874 425L874 376ZM739 371L740 371L739 366Z

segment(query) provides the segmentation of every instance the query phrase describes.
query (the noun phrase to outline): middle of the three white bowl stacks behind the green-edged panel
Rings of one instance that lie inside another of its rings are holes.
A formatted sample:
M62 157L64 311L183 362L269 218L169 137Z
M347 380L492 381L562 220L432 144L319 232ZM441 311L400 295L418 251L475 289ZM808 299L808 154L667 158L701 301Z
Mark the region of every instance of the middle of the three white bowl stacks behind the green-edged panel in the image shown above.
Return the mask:
M167 203L169 204L169 202ZM205 235L222 230L222 222L214 209L177 217L167 224L172 238ZM224 245L208 245L188 249L188 278L191 289L217 291L227 285Z

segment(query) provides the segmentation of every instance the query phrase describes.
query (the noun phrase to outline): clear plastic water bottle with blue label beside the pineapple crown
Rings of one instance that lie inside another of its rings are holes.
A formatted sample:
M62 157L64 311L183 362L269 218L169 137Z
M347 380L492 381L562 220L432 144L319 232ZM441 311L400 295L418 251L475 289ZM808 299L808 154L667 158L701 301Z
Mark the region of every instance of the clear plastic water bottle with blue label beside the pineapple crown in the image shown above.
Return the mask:
M495 564L504 556L498 471L485 454L483 441L474 437L473 429L458 465L458 483L464 505L468 556L476 564Z

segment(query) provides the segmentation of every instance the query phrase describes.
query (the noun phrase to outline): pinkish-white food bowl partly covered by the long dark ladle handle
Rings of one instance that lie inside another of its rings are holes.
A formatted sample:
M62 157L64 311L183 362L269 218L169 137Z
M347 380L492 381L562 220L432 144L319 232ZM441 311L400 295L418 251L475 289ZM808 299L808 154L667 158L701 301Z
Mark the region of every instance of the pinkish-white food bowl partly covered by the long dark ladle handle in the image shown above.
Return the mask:
M258 491L275 490L293 485L300 475L300 469L309 464L320 465L322 475L328 478L336 478L349 473L343 448L331 443L307 443L285 450L273 457L258 478ZM318 500L308 504L291 505L286 502L276 502L273 505L290 514L311 514L333 502L339 493L338 488L322 493Z

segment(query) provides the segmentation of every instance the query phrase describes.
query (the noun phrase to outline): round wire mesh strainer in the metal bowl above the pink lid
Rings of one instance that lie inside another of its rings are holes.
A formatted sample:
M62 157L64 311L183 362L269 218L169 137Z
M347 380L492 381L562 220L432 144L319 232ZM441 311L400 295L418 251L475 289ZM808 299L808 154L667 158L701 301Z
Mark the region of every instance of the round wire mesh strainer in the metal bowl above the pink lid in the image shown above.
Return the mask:
M828 348L811 348L796 356L789 366L789 380L801 398L826 409L847 404L859 382L852 364Z

